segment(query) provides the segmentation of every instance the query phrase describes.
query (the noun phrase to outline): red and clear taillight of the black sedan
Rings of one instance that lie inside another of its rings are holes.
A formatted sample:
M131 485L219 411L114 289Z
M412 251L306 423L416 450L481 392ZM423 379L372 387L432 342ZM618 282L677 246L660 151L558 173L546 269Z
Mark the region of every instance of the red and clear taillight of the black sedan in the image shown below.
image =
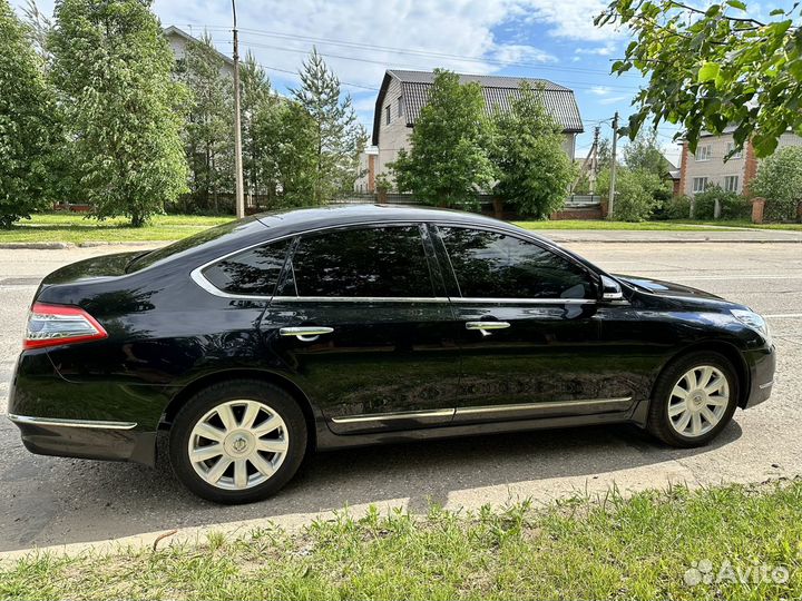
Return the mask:
M107 338L97 319L79 307L35 303L28 314L23 348L41 348Z

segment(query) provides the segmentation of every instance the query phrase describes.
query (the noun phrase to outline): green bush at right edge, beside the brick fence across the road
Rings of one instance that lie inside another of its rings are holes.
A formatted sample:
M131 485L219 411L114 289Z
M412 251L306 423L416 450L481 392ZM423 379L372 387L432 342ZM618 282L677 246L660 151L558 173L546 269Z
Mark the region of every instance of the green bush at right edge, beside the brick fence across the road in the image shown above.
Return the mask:
M750 189L766 199L767 219L795 218L802 203L802 147L781 148L761 161Z

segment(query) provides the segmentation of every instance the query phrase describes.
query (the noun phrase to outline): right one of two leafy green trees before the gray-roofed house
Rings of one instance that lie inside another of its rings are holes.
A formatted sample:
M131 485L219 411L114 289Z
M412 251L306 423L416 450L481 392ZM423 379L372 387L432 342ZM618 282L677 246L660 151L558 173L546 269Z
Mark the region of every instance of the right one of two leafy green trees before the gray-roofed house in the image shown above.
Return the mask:
M521 215L546 218L565 204L574 166L563 149L563 127L527 82L510 110L493 115L491 158L499 181L493 191Z

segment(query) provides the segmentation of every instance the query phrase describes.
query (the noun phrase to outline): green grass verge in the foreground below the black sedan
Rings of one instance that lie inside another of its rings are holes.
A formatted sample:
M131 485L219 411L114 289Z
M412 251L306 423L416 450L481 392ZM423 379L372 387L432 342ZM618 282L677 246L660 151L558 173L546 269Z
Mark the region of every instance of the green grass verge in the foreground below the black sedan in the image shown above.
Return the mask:
M0 598L50 599L800 599L802 482L610 493L538 510L348 514L156 552L31 555L0 570ZM708 561L717 583L688 584ZM753 569L784 568L785 582ZM751 574L751 575L750 575Z

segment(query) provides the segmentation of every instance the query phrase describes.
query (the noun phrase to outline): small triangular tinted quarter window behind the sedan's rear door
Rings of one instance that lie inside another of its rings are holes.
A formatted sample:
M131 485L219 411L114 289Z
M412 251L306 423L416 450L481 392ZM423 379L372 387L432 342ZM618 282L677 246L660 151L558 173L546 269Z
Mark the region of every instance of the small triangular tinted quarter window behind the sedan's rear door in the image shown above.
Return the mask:
M251 248L209 265L203 275L229 294L272 296L275 292L290 239Z

